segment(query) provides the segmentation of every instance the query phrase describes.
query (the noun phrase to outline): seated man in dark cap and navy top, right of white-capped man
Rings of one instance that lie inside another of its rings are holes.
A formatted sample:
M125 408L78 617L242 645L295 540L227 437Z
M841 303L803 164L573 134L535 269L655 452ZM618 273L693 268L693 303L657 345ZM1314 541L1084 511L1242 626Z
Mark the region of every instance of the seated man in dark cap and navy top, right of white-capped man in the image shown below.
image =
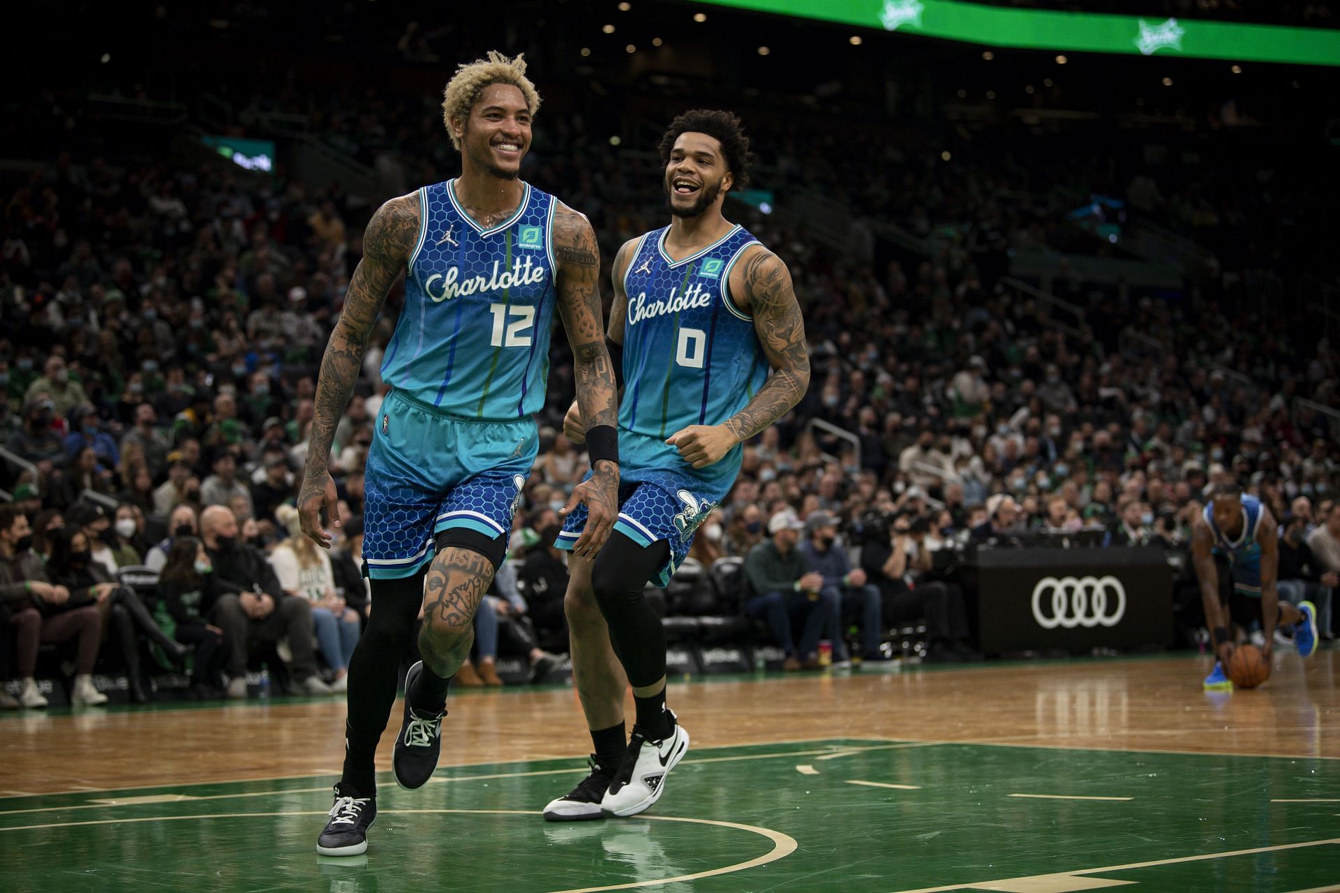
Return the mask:
M838 518L828 511L815 511L805 522L809 540L800 545L809 570L824 578L819 593L828 602L827 633L832 641L833 660L851 660L842 635L844 623L860 625L862 660L883 660L879 651L879 589L872 586L862 568L852 568L847 550L838 545Z

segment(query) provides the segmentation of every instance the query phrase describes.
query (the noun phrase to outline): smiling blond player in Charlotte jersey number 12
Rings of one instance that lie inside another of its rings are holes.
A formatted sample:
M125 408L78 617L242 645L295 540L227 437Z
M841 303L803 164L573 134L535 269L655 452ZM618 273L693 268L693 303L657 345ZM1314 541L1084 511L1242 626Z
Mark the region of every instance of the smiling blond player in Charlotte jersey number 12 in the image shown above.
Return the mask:
M377 817L373 758L421 606L423 660L405 679L393 767L395 781L414 789L437 766L448 684L470 652L474 612L535 462L532 416L544 406L555 308L576 357L595 469L568 501L592 519L575 554L594 557L614 522L616 386L600 331L595 233L586 217L519 179L539 104L521 56L490 52L460 67L442 108L461 175L393 198L373 216L322 357L299 507L307 536L330 548L318 515L324 506L339 525L327 471L335 423L382 301L406 273L405 307L382 361L393 390L374 422L366 470L363 566L373 611L350 661L344 771L316 845L324 856L367 849Z

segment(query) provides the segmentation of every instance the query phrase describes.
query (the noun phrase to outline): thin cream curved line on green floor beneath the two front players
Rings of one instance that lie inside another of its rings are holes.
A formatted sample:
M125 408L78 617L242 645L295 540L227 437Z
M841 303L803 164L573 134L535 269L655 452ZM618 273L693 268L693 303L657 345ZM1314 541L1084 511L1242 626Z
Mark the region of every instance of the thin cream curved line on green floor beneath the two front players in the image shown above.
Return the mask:
M378 814L387 815L444 815L444 814L466 814L466 815L541 815L543 813L536 810L511 810L511 809L387 809L381 810ZM87 822L51 822L47 825L19 825L15 827L0 829L0 831L35 831L46 830L52 827L87 827L92 825L114 825L122 823L129 825L131 822L185 822L190 819L205 821L213 818L297 818L307 815L326 815L326 810L318 811L296 811L296 813L214 813L208 815L143 815L138 818L115 819L115 818L100 818ZM722 819L713 818L690 818L683 815L635 815L630 821L642 822L685 822L689 825L709 825L716 827L730 827L740 831L749 831L750 834L757 834L772 842L772 850L757 856L752 860L745 860L744 862L733 862L722 868L708 869L704 872L694 872L691 874L679 874L675 877L666 878L651 878L646 881L630 881L627 884L610 884L604 886L582 886L571 888L565 890L555 890L555 893L603 893L604 890L631 890L642 886L663 886L666 884L683 884L687 881L697 881L705 877L717 877L720 874L734 874L736 872L744 872L760 865L766 865L769 862L776 862L783 860L799 849L796 838L791 834L773 830L770 827L762 827L760 825L744 825L741 822L726 822Z

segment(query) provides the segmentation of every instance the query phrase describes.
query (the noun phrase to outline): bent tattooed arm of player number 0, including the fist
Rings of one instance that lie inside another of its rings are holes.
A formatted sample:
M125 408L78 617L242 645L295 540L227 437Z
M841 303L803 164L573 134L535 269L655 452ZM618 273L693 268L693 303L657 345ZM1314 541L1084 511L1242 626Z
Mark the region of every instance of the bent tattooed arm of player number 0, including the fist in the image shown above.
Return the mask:
M744 270L730 273L730 292L741 296L740 309L753 313L754 332L772 375L745 408L722 424L691 424L666 440L695 469L720 462L737 443L784 416L809 387L805 320L800 316L791 272L772 252L761 246L749 250L740 265Z

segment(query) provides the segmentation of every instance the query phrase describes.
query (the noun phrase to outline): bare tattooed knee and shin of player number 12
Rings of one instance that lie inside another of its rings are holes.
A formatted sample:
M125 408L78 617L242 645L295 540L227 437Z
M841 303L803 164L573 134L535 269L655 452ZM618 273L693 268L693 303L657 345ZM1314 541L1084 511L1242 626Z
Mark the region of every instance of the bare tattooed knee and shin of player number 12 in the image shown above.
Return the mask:
M440 679L450 679L470 656L474 612L493 582L493 564L477 552L448 548L433 558L423 588L419 653Z

